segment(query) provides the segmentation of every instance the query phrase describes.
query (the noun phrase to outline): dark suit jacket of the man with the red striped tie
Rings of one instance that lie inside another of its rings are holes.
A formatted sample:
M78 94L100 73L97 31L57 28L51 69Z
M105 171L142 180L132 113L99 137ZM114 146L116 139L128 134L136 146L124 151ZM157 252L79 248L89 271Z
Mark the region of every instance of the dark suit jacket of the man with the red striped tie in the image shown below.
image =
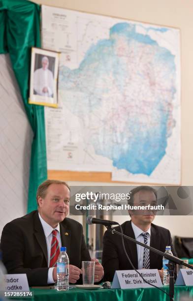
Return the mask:
M65 218L60 223L60 234L71 265L81 268L82 260L91 260L80 223ZM38 211L32 211L6 224L1 235L0 248L2 261L9 274L26 273L30 286L47 285L47 245Z

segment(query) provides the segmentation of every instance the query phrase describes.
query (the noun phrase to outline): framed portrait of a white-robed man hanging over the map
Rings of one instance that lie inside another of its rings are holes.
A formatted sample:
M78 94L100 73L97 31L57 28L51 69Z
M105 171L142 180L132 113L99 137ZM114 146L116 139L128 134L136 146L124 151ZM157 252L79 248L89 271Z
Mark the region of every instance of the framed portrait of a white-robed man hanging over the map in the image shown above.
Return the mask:
M60 53L32 47L30 104L58 106L58 69Z

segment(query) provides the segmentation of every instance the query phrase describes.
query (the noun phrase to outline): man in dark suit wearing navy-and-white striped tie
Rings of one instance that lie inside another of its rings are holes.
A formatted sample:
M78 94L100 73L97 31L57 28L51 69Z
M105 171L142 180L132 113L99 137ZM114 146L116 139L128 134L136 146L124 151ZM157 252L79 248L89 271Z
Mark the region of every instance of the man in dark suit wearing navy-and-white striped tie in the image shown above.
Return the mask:
M130 206L157 205L157 192L150 186L138 186L130 191ZM148 244L162 252L167 245L176 256L172 245L169 230L152 224L155 211L129 211L130 221L121 225L123 233L137 241ZM115 228L120 232L120 228ZM163 277L162 257L140 245L124 239L126 251L136 269L158 269L161 279ZM133 270L123 249L122 238L107 230L103 237L102 266L104 268L104 281L112 281L115 271Z

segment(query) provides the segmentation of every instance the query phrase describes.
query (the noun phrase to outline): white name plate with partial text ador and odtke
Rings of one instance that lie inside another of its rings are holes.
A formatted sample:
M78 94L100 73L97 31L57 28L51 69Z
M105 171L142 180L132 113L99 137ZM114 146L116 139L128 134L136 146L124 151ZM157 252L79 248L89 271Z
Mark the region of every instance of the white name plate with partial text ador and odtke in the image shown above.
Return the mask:
M6 292L30 292L28 278L26 274L5 275Z

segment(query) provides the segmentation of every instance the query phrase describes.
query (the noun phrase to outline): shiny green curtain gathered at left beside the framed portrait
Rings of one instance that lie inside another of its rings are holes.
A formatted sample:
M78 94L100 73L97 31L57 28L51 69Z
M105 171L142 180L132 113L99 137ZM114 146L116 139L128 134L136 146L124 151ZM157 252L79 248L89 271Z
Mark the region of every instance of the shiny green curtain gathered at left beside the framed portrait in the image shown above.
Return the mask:
M37 186L47 179L44 108L28 104L32 46L40 47L40 6L27 0L0 0L0 54L9 53L34 134L28 212L37 208Z

